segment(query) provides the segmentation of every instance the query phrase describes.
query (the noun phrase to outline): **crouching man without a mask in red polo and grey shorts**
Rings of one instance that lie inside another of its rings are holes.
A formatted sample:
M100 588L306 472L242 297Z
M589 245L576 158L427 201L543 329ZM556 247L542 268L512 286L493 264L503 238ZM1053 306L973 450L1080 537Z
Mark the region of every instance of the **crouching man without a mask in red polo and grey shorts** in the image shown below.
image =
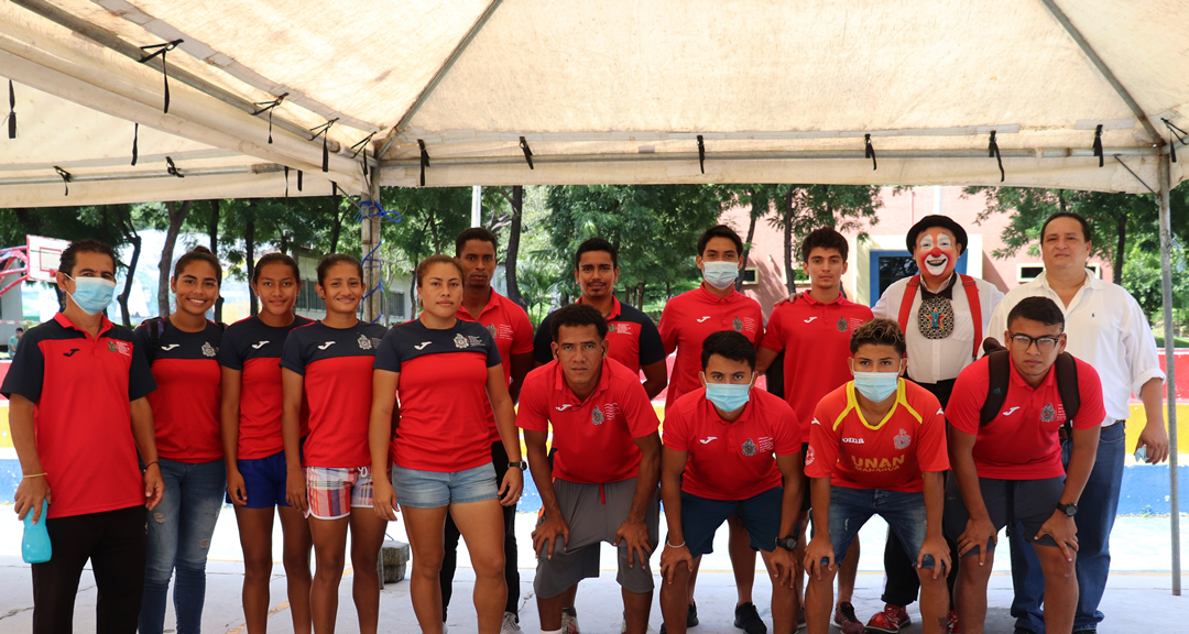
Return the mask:
M597 308L572 303L552 318L554 360L529 372L516 416L543 511L533 531L541 632L562 634L566 596L598 577L608 541L619 550L623 632L644 634L660 523L660 420L636 372L606 358L608 326Z

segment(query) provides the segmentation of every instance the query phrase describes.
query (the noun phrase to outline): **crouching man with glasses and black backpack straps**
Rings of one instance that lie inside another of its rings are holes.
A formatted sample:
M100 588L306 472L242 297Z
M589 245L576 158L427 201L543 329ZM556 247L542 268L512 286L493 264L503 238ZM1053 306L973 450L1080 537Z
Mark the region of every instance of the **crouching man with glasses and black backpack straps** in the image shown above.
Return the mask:
M1094 368L1062 357L1065 315L1052 300L1021 300L1007 314L1007 351L968 365L945 409L954 465L945 529L967 560L954 590L963 634L982 634L994 547L1009 521L1021 522L1024 538L1044 546L1036 552L1045 580L1045 632L1074 628L1074 515L1094 469L1106 409ZM1061 463L1065 434L1074 441L1068 470Z

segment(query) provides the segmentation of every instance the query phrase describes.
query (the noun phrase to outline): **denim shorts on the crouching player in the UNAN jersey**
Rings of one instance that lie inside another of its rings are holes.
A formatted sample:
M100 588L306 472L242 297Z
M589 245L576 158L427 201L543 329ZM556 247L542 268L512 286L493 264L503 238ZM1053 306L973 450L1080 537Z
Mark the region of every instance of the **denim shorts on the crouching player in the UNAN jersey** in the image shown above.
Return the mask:
M842 561L858 529L873 515L883 517L917 567L926 533L925 494L847 487L830 487L830 545L835 563ZM933 558L926 555L923 567L933 567Z

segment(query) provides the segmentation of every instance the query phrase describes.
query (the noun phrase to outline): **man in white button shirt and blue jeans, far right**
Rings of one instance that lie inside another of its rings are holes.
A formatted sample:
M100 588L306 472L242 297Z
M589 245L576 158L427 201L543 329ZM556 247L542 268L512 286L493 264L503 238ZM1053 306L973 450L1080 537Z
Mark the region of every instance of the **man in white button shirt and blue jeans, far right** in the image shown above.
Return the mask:
M1097 460L1077 508L1077 584L1080 596L1074 633L1097 629L1103 615L1099 602L1111 572L1111 529L1119 508L1125 447L1124 425L1128 400L1137 394L1144 402L1147 423L1139 434L1147 463L1169 454L1160 389L1164 371L1156 353L1156 339L1139 303L1122 287L1099 280L1086 269L1090 253L1090 227L1084 218L1068 212L1053 214L1040 231L1044 272L1012 289L990 316L987 332L1004 332L1007 313L1024 297L1042 296L1065 312L1067 352L1099 371L1107 418L1102 421ZM1071 441L1062 435L1062 459L1068 463ZM1012 577L1015 600L1012 615L1017 634L1044 634L1040 610L1044 577L1032 545L1012 531Z

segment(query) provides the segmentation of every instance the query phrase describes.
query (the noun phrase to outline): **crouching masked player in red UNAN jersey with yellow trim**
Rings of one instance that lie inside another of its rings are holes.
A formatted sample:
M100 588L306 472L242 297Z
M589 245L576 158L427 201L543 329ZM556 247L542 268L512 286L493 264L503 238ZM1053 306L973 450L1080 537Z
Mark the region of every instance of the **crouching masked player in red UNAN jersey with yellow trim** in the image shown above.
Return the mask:
M945 630L945 418L936 396L901 378L904 351L895 321L874 319L855 328L855 378L826 395L810 423L805 475L812 478L813 538L805 548L805 607L811 634L829 630L835 571L872 515L888 522L916 563L924 630Z

